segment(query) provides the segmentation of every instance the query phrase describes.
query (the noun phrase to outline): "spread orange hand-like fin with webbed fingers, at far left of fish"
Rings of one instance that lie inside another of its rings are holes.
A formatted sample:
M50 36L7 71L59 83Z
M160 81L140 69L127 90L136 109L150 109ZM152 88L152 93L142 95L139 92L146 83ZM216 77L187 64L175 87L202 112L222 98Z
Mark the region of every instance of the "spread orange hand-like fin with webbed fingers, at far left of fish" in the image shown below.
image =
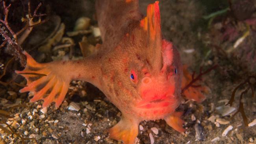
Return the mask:
M55 102L55 106L59 107L71 79L61 76L58 71L53 71L51 63L37 63L27 52L24 54L27 56L25 69L15 72L26 78L28 86L20 92L33 92L34 96L30 102L44 100L43 107L47 107L51 102Z

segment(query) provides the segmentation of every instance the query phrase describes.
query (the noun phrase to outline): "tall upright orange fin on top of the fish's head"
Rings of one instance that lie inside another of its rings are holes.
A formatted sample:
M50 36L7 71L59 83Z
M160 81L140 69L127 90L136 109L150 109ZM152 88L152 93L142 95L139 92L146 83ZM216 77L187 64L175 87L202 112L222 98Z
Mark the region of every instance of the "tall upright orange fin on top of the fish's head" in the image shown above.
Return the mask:
M161 36L161 20L159 1L149 4L147 7L147 17L140 21L140 26L146 33L148 49L148 59L152 63L153 68L160 70L162 66L162 36Z

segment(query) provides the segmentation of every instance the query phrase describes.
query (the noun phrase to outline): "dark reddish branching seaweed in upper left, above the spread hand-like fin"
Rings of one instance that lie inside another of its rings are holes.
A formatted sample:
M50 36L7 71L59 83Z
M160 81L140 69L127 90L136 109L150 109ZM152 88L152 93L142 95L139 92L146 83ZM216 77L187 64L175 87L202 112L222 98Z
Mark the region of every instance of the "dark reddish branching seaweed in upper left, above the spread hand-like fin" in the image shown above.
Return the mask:
M25 67L26 65L26 56L22 53L23 48L20 46L22 42L28 37L30 32L32 31L33 27L39 24L42 24L46 20L41 20L41 17L45 16L46 14L39 14L37 15L38 9L41 7L41 3L36 7L33 14L31 14L31 8L30 8L30 2L28 2L28 15L26 18L22 18L23 22L26 22L26 25L19 30L18 32L14 32L8 23L8 14L9 14L9 8L11 7L11 4L6 6L6 2L3 1L3 7L4 7L4 19L0 19L0 35L2 35L3 42L0 44L0 48L4 47L7 44L7 53L13 55L20 61L20 64ZM39 17L37 22L33 22L33 18ZM11 33L12 38L8 35ZM20 38L18 39L18 35L22 33Z

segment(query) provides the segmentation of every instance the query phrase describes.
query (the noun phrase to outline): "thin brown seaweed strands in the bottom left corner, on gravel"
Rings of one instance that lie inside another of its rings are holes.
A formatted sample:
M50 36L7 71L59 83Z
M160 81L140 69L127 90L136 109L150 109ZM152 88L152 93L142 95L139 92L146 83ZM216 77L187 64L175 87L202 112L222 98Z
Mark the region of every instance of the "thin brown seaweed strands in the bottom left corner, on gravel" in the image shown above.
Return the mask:
M11 110L16 108L16 107L24 107L25 105L16 105L14 107L11 107ZM11 111L10 110L10 111ZM25 140L36 140L35 138L24 138L22 137L22 135L20 135L19 133L15 132L14 129L11 128L11 126L9 124L7 124L7 118L14 118L14 116L12 116L11 113L9 113L8 111L4 111L2 109L0 109L0 124L5 124L8 128L0 125L0 129L2 129L7 135L11 135L11 134L14 134L14 135L17 135L17 137L20 138L20 140L22 141L22 144L25 144Z

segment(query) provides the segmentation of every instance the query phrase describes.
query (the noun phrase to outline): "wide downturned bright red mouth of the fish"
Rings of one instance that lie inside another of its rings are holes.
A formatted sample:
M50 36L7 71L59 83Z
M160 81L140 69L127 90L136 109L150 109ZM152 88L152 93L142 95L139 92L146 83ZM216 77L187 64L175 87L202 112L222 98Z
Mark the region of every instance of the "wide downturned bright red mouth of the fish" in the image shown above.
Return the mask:
M158 100L152 100L149 102L139 103L137 108L140 108L140 109L162 108L162 107L168 107L169 105L172 105L174 102L175 100L173 98L158 99Z

